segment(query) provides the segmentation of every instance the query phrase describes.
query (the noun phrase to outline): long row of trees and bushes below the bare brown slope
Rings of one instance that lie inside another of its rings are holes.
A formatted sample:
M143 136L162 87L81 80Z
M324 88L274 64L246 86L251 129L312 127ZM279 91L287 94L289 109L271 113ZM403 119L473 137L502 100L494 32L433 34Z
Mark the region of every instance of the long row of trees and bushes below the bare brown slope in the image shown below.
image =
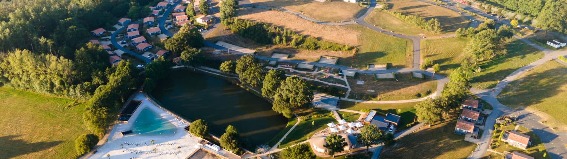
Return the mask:
M259 44L282 44L297 49L348 51L354 47L321 41L315 37L305 37L293 31L246 19L227 18L222 24L239 36L249 38Z

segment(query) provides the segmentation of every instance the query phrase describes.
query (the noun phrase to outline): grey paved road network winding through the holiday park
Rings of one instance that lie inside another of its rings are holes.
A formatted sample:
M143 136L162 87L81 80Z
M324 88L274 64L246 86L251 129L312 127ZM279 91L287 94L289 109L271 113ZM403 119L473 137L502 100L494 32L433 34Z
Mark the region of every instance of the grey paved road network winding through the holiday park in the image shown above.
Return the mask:
M422 0L416 0L416 1L435 4L435 2L430 2L430 1L422 1ZM252 4L249 3L248 0L241 1L241 2L246 3L246 5L241 5L241 7L252 6ZM453 3L453 1L450 1L450 0L443 0L443 2ZM176 5L179 5L179 3L180 2L176 2L174 5L172 5L170 8L168 8L164 14L167 15L169 12L171 12L171 10ZM321 22L319 20L309 18L309 17L307 17L303 14L300 14L298 12L284 10L282 8L272 8L272 7L265 7L265 6L255 6L255 7L266 8L266 9L278 9L278 10L281 10L281 11L284 11L284 12L289 12L291 14L295 14L295 15L303 18L303 19L306 19L306 20L311 21L311 22L316 22L316 23L322 24L322 25L361 24L361 25L364 25L364 26L366 26L370 29L385 33L387 35L392 35L392 36L396 36L396 37L400 37L400 38L410 39L410 40L413 41L413 57L414 57L413 68L397 68L397 69L389 69L389 70L371 71L371 70L359 70L357 68L351 68L351 67L340 66L340 65L331 65L331 64L319 63L319 62L307 62L307 61L300 61L300 60L293 60L293 59L278 59L278 58L271 58L271 57L262 57L262 56L258 56L258 55L256 55L256 57L259 58L259 59L269 60L269 61L302 63L302 64L315 65L315 66L319 66L319 67L332 67L332 68L338 68L338 69L341 69L341 70L354 71L354 72L358 72L358 73L361 73L361 74L386 74L386 73L392 73L392 72L396 72L396 73L397 72L418 72L418 73L422 73L424 75L432 76L433 72L422 71L422 70L419 69L420 61L421 61L421 59L420 59L420 57L421 57L421 55L420 55L420 40L424 39L424 37L400 35L400 34L397 34L397 33L393 33L393 32L390 32L390 31L386 31L386 30L377 28L374 25L366 23L364 19L372 11L374 11L375 6L376 6L376 2L371 1L371 5L370 5L370 7L368 8L368 10L366 11L365 14L363 14L362 16L360 16L359 18L357 18L357 19L355 19L351 22L342 22L342 23ZM464 5L461 5L461 6L464 6ZM445 6L445 7L449 8L453 11L459 11L455 8L456 6ZM484 12L481 12L481 11L477 10L476 8L472 8L470 6L464 6L463 9L469 10L469 11L472 11L472 12L475 12L475 13L481 14L481 15L484 14ZM466 13L463 13L462 15L465 16L469 20L476 20L476 22L479 22L478 21L479 19L477 19L476 16L468 15ZM492 16L487 16L487 17L492 18ZM214 17L214 18L215 18L215 20L218 20L217 17ZM162 30L162 33L164 33L167 36L172 37L173 34L169 31L167 31L167 29L163 25L163 24L165 24L166 19L167 19L167 16L158 19L159 27ZM219 22L219 21L217 21L217 22ZM503 21L503 22L506 22L506 21ZM134 23L139 23L139 21L134 22ZM509 23L509 21L507 23ZM471 27L476 27L476 25L477 25L477 23L475 23L475 22L471 23ZM136 57L141 57L141 59L144 59L146 61L147 58L142 57L141 55L138 55L138 54L136 54L132 51L126 50L125 48L122 48L120 45L117 45L116 38L115 38L116 33L120 32L124 28L125 27L122 27L112 34L112 37L111 37L112 44L115 45L116 48L125 51L125 53L132 54ZM215 27L213 27L213 28L215 28ZM441 37L450 37L450 36L454 36L454 35L445 35L445 36L441 36ZM545 54L545 57L542 58L542 59L539 59L538 61L532 62L529 65L521 67L517 71L515 71L512 74L510 74L509 76L507 76L505 79L503 79L494 88L494 89L497 90L495 92L492 92L492 89L490 89L490 90L471 89L470 90L473 94L476 94L476 96L479 96L481 99L483 99L484 101L486 101L490 105L492 105L494 110L492 111L492 113L490 113L488 115L488 117L486 117L487 119L486 119L486 123L484 125L485 131L482 135L483 137L481 137L480 142L477 143L479 146L475 149L475 151L472 152L472 154L471 154L471 156L469 156L469 158L482 158L484 156L484 154L486 153L486 151L488 151L490 139L492 139L491 138L492 130L494 130L494 127L493 127L494 119L496 119L497 117L500 117L501 115L517 113L517 112L522 114L519 118L520 121L517 122L517 123L521 124L524 127L530 128L531 131L535 132L535 134L540 136L545 147L548 149L548 153L549 153L549 156L551 158L565 158L565 157L567 157L567 149L564 146L565 142L562 141L562 139L567 139L567 133L565 131L554 132L550 128L548 128L547 126L544 126L543 124L539 123L538 121L539 121L540 118L537 117L536 115L534 115L533 113L527 112L525 110L515 111L513 109L510 109L507 106L500 104L500 102L498 102L496 97L497 97L498 93L501 92L502 88L506 84L508 84L511 81L518 78L519 75L522 75L524 72L530 70L531 68L534 68L536 66L539 66L539 65L547 62L548 59L556 59L557 55L565 56L565 55L567 55L567 51L565 51L565 50L562 50L562 51L549 50L549 49L543 48L539 45L536 45L533 42L528 41L528 40L526 40L522 37L519 37L519 36L514 36L514 37L518 38L519 40L521 40L523 42L526 42L527 44L529 44L531 46L534 46L535 48L537 48L541 51L543 51L544 54ZM219 49L219 50L227 50L227 48L225 48L225 47L213 44L213 43L208 42L208 41L205 41L204 43L205 43L205 46L208 46L210 48ZM239 52L239 51L236 51L236 50L231 50L230 52L232 54L237 54L237 55L246 55L246 53L242 53L242 52ZM150 63L150 62L151 61L149 59L147 59L146 63ZM565 63L565 62L561 62L561 63L563 63L564 65L567 65L567 63ZM448 78L446 78L445 76L441 76L441 75L435 75L435 79L438 80L437 90L430 97L439 96L441 94L441 91L443 91L443 85L445 85L445 83L448 82ZM402 103L402 102L422 101L422 100L424 100L424 98L415 99L415 100L404 100L404 101L359 101L359 100L351 100L351 99L345 99L345 98L342 98L342 100L387 104L387 103ZM487 130L489 130L489 131L487 131Z

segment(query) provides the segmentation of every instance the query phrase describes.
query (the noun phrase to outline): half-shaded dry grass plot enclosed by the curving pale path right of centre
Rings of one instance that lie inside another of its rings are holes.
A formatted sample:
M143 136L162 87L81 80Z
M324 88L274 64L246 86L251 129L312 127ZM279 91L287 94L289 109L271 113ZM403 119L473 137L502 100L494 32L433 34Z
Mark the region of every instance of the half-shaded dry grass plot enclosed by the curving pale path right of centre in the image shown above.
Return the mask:
M374 75L357 75L349 79L352 89L349 98L367 101L411 100L429 96L437 89L437 80L425 76L424 80L412 79L411 74L396 74L395 80L376 80ZM364 84L357 84L357 81ZM373 90L374 92L368 92Z

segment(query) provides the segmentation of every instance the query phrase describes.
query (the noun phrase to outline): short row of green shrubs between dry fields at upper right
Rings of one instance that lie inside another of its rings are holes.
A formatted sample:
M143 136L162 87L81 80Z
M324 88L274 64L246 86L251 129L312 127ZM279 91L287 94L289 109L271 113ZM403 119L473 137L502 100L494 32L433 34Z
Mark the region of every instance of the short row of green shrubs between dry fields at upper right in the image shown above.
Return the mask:
M439 23L439 19L431 18L429 20L425 20L421 15L403 15L401 12L396 11L388 11L390 14L395 15L397 18L403 20L406 23L412 24L418 28L424 29L431 33L441 33L443 30L441 28L441 23Z

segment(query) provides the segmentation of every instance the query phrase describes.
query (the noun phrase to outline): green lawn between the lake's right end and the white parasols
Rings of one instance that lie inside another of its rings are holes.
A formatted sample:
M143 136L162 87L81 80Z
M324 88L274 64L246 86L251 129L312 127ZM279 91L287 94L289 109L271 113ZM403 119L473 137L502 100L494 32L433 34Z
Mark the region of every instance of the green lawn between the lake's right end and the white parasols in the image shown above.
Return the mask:
M333 118L331 111L323 109L299 109L295 111L301 117L301 122L286 136L284 141L280 143L280 148L289 147L290 145L301 143L307 140L307 137L313 136L315 132L319 132L327 128L327 123L337 122ZM312 124L315 121L315 124Z

